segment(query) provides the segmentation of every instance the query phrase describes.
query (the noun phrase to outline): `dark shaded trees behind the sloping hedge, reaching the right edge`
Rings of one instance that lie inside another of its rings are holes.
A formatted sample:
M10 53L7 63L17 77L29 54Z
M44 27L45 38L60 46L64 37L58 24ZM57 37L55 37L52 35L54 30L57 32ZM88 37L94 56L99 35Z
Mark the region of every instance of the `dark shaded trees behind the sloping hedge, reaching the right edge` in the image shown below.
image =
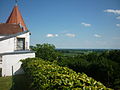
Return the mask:
M58 64L67 66L76 72L84 72L88 76L101 81L107 87L120 89L119 58L120 51L111 50L63 57L60 62L58 61Z

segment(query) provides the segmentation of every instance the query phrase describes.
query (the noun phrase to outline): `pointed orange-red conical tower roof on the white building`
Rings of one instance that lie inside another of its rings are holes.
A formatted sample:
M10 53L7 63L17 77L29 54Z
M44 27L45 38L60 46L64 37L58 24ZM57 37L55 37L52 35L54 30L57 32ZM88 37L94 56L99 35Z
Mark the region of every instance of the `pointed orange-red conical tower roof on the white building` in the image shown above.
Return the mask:
M23 28L23 30L28 30L17 5L14 6L6 23L19 24Z

